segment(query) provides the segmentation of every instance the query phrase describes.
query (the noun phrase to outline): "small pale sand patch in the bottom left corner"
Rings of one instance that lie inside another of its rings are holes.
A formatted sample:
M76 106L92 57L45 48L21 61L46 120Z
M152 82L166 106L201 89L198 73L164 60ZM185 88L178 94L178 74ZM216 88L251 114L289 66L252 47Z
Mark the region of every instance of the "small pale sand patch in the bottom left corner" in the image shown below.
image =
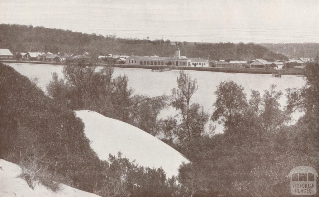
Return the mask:
M84 192L76 188L61 184L61 190L54 193L45 186L36 185L31 189L24 179L17 178L21 173L21 168L13 163L0 159L0 197L11 196L98 196L93 193Z

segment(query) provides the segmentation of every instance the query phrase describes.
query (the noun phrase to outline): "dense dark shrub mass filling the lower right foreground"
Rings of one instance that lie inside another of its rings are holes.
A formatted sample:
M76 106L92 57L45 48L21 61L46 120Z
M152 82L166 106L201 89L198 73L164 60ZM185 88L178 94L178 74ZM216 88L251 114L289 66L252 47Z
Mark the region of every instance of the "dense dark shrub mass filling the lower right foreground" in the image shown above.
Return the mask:
M290 196L291 169L319 171L319 65L306 69L307 85L288 90L286 110L279 108L282 93L275 86L263 96L252 90L224 134L177 146L192 162L180 168L179 176L188 195ZM292 109L306 114L288 126L284 123Z

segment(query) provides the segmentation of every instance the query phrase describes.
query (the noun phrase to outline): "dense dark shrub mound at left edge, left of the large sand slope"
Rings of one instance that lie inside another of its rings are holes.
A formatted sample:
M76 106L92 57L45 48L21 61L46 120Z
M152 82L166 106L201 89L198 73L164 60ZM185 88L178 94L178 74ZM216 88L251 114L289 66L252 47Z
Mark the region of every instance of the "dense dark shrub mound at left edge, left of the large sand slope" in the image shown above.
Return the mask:
M20 163L37 151L44 155L41 162L50 164L48 170L92 191L101 161L83 123L13 68L1 64L0 75L0 157Z

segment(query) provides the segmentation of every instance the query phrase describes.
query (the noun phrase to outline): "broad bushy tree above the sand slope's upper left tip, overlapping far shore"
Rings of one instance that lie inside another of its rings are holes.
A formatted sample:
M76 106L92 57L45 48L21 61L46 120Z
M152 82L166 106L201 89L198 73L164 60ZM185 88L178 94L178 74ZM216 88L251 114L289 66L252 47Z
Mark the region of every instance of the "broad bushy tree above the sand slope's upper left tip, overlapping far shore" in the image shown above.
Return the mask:
M62 71L64 79L52 74L52 81L47 85L48 95L72 110L91 108L99 99L101 87L109 86L113 73L113 68L96 72L96 67L97 62L90 58L66 60Z

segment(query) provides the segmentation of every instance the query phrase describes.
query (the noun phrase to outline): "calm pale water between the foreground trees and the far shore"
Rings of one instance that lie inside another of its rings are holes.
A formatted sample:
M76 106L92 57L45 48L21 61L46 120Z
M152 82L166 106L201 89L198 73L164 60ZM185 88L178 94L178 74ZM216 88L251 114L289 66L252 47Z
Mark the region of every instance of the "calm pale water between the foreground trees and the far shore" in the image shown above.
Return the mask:
M29 78L38 77L38 86L46 91L46 84L51 79L51 73L56 72L62 77L62 66L41 65L41 64L17 64L8 63L16 69L20 74ZM245 89L249 99L250 89L258 90L262 95L263 91L269 89L271 84L277 85L277 90L281 90L284 95L280 98L281 107L286 105L286 88L298 88L305 84L301 76L283 75L281 78L271 77L271 74L242 74L242 73L221 73L221 72L204 72L204 71L185 71L193 78L197 78L198 90L192 97L192 102L198 102L204 106L204 110L210 114L213 112L212 104L215 102L214 91L220 81L233 80L241 84ZM157 96L162 94L171 94L171 89L177 86L176 78L179 75L178 70L168 72L151 72L149 69L134 68L115 68L114 76L126 74L129 78L129 86L135 89L135 93L145 94L149 96ZM175 109L167 109L162 111L161 117L175 115ZM292 119L297 120L301 113L292 114ZM217 123L216 123L217 124ZM217 125L216 132L219 133L223 129L222 125Z

